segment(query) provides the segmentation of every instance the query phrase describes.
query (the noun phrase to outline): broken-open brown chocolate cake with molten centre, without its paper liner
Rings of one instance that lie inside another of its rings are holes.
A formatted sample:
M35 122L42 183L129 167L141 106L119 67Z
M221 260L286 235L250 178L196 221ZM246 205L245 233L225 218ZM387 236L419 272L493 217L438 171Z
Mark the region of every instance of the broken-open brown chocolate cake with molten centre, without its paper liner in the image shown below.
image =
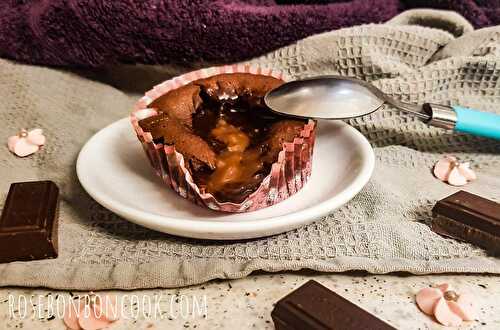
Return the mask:
M283 81L250 73L219 74L169 91L139 122L155 143L175 145L200 189L240 203L270 173L283 143L306 121L277 115L263 97Z

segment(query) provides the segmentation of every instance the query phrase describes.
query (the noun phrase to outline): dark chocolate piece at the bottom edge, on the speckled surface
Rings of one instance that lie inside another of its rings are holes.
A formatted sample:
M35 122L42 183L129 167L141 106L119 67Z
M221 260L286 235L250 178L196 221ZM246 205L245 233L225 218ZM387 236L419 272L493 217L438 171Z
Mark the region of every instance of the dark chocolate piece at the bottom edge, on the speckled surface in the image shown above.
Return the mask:
M271 317L276 330L395 329L316 281L281 299Z

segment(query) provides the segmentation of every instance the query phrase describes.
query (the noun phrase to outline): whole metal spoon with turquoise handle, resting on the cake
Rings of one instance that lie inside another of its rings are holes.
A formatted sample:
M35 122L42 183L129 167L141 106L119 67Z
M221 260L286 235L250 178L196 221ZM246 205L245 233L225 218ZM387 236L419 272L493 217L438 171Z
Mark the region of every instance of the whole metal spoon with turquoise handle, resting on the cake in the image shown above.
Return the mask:
M356 78L321 76L291 81L268 92L264 102L273 111L314 119L360 117L387 103L432 126L500 139L500 115L460 106L404 103Z

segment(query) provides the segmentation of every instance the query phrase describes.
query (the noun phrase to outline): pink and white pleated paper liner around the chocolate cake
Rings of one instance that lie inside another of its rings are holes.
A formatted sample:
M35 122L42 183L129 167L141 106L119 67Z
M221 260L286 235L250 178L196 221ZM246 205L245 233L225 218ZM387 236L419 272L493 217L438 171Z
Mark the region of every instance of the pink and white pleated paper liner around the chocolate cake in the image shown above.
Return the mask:
M224 212L255 211L279 203L298 192L311 175L314 121L309 120L299 137L283 145L278 160L271 166L271 173L255 192L239 204L218 202L212 194L202 193L186 169L183 155L175 150L175 146L154 143L151 133L144 132L139 126L139 120L157 114L157 111L148 108L148 105L161 95L191 81L222 73L253 73L288 80L282 72L253 65L237 64L193 71L167 80L146 92L135 104L130 115L132 126L156 174L182 197L212 210Z

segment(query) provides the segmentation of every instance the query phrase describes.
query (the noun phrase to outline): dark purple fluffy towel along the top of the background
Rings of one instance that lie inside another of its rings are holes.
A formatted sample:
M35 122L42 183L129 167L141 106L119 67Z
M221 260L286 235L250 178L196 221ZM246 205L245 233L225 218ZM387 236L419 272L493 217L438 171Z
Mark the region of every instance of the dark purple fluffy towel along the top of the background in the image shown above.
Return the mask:
M0 56L82 67L238 61L315 33L384 22L415 7L456 10L476 27L500 22L500 0L0 2Z

